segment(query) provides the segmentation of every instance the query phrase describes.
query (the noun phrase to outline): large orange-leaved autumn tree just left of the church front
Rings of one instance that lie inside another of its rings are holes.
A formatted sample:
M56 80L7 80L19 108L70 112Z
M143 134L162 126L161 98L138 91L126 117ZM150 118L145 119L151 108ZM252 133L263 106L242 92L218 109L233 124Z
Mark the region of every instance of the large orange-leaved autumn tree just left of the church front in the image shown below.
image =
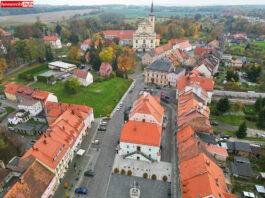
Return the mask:
M128 71L134 68L136 61L134 59L133 50L125 46L122 50L121 55L118 57L118 68L120 71Z

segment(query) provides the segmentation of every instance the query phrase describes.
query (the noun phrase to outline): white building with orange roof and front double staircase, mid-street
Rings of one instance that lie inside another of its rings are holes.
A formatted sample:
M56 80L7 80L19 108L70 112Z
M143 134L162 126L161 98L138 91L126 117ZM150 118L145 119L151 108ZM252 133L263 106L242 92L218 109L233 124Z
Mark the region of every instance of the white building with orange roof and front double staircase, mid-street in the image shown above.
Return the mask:
M162 127L156 123L130 120L124 124L119 155L148 162L160 161Z

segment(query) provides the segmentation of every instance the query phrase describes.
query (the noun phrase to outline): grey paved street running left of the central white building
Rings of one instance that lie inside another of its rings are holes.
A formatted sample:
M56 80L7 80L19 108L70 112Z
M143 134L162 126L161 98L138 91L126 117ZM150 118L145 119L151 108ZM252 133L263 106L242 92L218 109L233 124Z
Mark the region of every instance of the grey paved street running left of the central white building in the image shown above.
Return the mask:
M133 104L142 87L143 78L138 77L135 82L133 93L128 94L123 101L124 107L120 111L116 111L113 114L113 117L107 126L107 131L105 132L103 141L100 144L101 152L95 164L95 176L89 181L84 179L80 183L80 186L86 187L88 189L88 194L83 197L103 198L106 196L105 193L107 192L112 164L116 154L115 146L117 145L117 141L120 138L120 132L123 126L123 110L125 107L131 106ZM79 197L82 197L82 195L79 195Z

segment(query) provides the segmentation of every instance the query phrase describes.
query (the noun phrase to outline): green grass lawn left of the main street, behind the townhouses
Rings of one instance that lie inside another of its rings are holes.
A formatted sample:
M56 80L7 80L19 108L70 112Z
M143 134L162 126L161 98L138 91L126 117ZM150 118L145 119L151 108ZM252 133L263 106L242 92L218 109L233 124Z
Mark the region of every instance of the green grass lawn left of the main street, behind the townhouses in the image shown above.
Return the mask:
M36 82L32 87L54 93L59 102L93 107L95 117L99 117L111 113L131 83L132 80L112 78L103 82L94 82L88 87L80 87L78 93L74 95L65 91L62 82L57 82L53 86Z

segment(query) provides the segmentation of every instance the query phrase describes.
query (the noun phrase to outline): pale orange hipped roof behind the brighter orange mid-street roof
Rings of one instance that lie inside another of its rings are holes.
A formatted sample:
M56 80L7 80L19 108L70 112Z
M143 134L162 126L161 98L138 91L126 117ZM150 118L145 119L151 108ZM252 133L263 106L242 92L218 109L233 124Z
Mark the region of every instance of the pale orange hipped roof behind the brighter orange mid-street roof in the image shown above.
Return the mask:
M151 94L140 95L132 108L130 118L135 114L149 114L152 115L157 122L161 122L163 119L164 108L159 104L160 98L154 97Z

